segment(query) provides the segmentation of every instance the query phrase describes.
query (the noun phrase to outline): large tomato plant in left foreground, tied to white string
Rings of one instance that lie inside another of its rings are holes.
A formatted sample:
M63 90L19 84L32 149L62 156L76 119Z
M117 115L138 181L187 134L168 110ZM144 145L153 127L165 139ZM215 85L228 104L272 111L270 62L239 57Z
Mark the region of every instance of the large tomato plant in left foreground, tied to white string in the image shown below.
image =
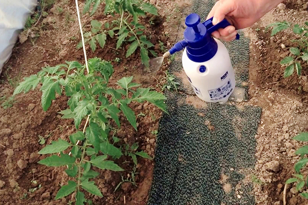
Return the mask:
M61 111L60 114L62 118L74 119L76 132L70 135L70 142L59 138L44 147L38 154L53 155L38 163L48 167L66 166L65 172L72 177L72 180L61 187L55 199L76 192L76 204L86 202L83 191L103 196L91 180L99 173L91 170L91 167L124 171L113 161L122 157L123 152L132 158L135 165L137 156L151 159L145 152L137 151L138 144L133 144L131 147L129 145L115 147L113 144L119 141L115 136L113 136L114 143L110 143L109 131L114 127L121 127L119 113L123 113L137 131L136 115L129 107L133 101L137 103L148 101L167 112L164 103L166 97L156 91L150 91L149 88L140 88L139 84L132 82L132 76L118 80L117 85L121 89L115 90L109 87L109 79L113 73L110 62L95 57L88 60L88 68L89 73L85 75L86 66L77 61L66 61L66 64L45 67L37 74L24 78L13 94L28 92L30 89L35 89L38 83L42 83L41 103L44 111L51 106L56 93L62 95L65 91L65 95L70 98L69 109ZM83 131L79 131L82 120L86 122ZM66 153L70 151L71 155L64 154L64 151ZM85 156L89 156L89 159L85 160Z

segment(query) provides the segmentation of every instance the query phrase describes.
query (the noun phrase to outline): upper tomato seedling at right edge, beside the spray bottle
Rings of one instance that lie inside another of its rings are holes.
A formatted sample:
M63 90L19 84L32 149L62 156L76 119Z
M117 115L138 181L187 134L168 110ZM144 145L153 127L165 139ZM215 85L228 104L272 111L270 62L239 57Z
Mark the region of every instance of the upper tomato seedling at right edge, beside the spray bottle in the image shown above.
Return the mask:
M307 65L308 61L308 22L305 23L305 26L299 26L298 24L291 26L288 22L274 23L266 27L265 31L273 27L272 36L276 35L278 32L293 28L293 33L299 35L300 39L292 39L291 42L297 43L297 47L290 48L292 56L287 56L280 61L281 65L286 65L284 70L284 77L289 77L294 73L294 69L298 76L301 75L302 65Z

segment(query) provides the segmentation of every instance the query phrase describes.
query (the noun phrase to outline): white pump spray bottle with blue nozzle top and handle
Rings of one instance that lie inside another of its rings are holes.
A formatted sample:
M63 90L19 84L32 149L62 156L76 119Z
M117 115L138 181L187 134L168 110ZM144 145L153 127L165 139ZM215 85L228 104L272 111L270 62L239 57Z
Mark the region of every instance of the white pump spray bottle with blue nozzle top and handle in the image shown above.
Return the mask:
M212 20L200 23L198 14L188 15L184 39L166 52L164 58L185 49L182 64L196 95L206 102L225 103L235 89L235 75L226 47L211 33L230 23L224 19L214 26Z

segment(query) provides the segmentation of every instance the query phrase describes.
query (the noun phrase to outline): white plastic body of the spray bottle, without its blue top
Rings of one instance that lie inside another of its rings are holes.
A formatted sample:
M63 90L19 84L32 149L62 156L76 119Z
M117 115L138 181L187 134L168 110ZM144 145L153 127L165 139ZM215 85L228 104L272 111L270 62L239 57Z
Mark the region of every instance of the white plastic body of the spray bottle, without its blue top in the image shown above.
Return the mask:
M184 71L196 95L209 103L225 103L235 89L235 75L228 50L218 39L217 53L211 59L197 63L190 60L186 48L182 56ZM200 72L205 66L205 72Z

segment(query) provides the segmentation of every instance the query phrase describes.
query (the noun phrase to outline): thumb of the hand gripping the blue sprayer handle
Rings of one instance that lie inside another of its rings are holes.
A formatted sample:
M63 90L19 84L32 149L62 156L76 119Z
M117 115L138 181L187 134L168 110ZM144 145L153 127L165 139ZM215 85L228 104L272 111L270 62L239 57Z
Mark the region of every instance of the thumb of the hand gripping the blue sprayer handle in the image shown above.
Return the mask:
M213 10L214 10L214 17L213 17L213 25L216 25L218 24L219 22L221 22L225 16L232 12L234 8L234 5L233 5L233 1L230 1L230 0L226 0L226 1L223 1L223 0L220 0L219 2L217 2L215 4L215 6L213 7Z

